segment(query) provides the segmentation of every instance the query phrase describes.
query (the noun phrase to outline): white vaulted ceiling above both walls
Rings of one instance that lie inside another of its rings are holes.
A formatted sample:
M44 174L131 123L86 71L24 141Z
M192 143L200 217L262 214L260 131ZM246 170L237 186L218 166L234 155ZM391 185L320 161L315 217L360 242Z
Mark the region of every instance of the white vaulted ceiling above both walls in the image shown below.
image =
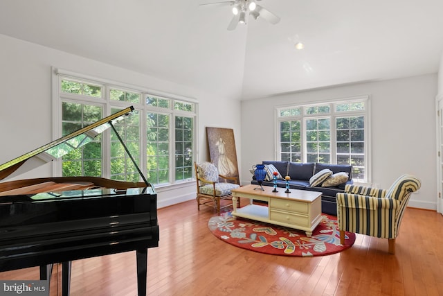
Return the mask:
M262 0L280 23L235 31L208 2L1 0L0 33L238 99L437 73L443 52L442 0Z

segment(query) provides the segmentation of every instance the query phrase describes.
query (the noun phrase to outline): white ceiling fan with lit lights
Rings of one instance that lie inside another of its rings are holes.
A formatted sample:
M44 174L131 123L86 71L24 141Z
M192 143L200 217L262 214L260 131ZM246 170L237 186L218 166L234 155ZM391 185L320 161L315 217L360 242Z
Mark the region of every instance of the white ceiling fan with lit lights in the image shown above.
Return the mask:
M277 24L280 17L274 15L272 12L258 5L257 2L261 0L235 0L235 1L221 1L213 3L203 3L200 6L217 5L217 6L233 6L233 19L228 25L228 30L232 31L237 28L237 24L246 24L248 16L251 15L254 19L262 17L271 24Z

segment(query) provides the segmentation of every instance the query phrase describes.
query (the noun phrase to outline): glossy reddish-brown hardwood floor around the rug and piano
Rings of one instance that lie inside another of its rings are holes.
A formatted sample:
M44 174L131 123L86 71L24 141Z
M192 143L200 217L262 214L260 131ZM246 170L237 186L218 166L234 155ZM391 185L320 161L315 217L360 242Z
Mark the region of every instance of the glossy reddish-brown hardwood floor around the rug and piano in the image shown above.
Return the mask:
M242 201L243 202L243 201ZM228 245L208 230L215 212L194 200L159 209L159 247L148 250L147 295L443 295L443 216L406 209L396 254L357 234L344 252L272 256ZM135 252L73 262L71 295L136 295ZM38 279L38 268L0 279ZM60 295L55 266L51 295Z

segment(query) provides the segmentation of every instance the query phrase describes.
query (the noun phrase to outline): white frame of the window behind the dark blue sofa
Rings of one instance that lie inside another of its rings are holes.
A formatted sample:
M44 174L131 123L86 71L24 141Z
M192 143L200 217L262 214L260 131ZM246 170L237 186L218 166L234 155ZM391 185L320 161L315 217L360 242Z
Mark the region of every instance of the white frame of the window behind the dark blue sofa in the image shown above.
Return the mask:
M353 103L353 102L365 102L365 110L364 111L347 111L347 112L336 112L334 109L334 105L336 103ZM305 107L315 107L320 105L329 105L330 112L325 114L305 114ZM287 110L291 108L301 108L302 112L300 115L292 115L292 116L280 116L280 111ZM331 164L336 164L337 155L336 155L336 118L338 117L348 117L348 116L364 116L365 118L365 130L364 130L364 162L365 162L365 178L358 179L354 176L354 182L361 182L363 184L371 184L372 182L372 172L371 172L371 132L370 132L370 96L352 96L349 98L336 98L327 101L318 101L313 103L298 103L293 105L280 105L275 107L275 159L281 160L281 145L280 145L280 122L282 121L300 121L300 141L301 141L301 162L307 162L307 153L306 153L306 128L305 121L310 118L330 118L330 131L331 131Z

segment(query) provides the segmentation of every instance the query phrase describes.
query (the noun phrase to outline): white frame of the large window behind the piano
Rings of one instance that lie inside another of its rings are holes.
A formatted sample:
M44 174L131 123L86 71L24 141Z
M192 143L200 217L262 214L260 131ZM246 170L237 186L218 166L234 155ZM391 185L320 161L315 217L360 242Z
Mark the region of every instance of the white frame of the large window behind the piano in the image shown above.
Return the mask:
M87 103L89 105L100 105L103 107L103 117L108 116L111 114L111 108L125 108L129 107L130 105L134 106L135 110L138 110L140 112L140 123L141 123L141 130L140 130L140 164L138 165L141 169L142 173L146 175L146 157L144 151L146 151L146 114L147 112L156 112L156 113L163 113L163 114L170 114L170 122L169 122L169 129L170 129L170 153L169 153L169 161L170 161L170 168L169 168L169 180L170 182L165 184L155 184L156 188L163 187L163 186L171 186L171 185L177 185L177 184L186 184L189 182L195 182L195 178L192 173L192 177L186 179L186 180L178 180L175 181L175 161L174 161L174 150L171 151L172 148L175 146L175 130L174 130L174 121L175 116L189 116L193 117L193 134L192 134L192 146L193 146L193 152L192 152L192 165L197 159L197 121L198 121L198 102L197 100L193 98L188 98L184 96L179 96L175 94L168 94L164 92L153 92L151 89L145 88L145 87L136 87L134 85L127 85L122 82L116 82L112 80L102 79L102 78L95 78L92 76L87 76L81 73L75 73L72 71L66 71L64 69L56 69L53 67L52 69L53 74L53 139L58 139L62 137L62 125L60 124L62 122L62 102L69 101L71 103ZM60 82L62 78L66 78L68 80L77 80L80 82L85 82L88 84L95 84L95 85L102 85L102 97L96 98L96 97L89 97L89 96L82 96L78 94L66 94L61 91L60 89ZM141 93L141 102L140 103L129 103L129 102L121 102L121 101L111 101L109 98L109 89L110 88L116 88L116 89L122 89L126 90L128 92L138 92ZM146 96L156 96L160 98L166 98L170 100L170 107L168 109L162 108L162 107L154 107L146 104L145 97ZM185 112L181 110L174 110L174 102L175 101L181 101L190 103L194 106L194 110L192 112ZM102 168L102 177L109 178L111 175L110 172L110 135L109 132L105 132L103 134L103 159L105 162L105 165ZM53 162L53 174L55 176L61 176L62 175L62 159L57 159L55 162ZM149 181L149 180L148 180Z

